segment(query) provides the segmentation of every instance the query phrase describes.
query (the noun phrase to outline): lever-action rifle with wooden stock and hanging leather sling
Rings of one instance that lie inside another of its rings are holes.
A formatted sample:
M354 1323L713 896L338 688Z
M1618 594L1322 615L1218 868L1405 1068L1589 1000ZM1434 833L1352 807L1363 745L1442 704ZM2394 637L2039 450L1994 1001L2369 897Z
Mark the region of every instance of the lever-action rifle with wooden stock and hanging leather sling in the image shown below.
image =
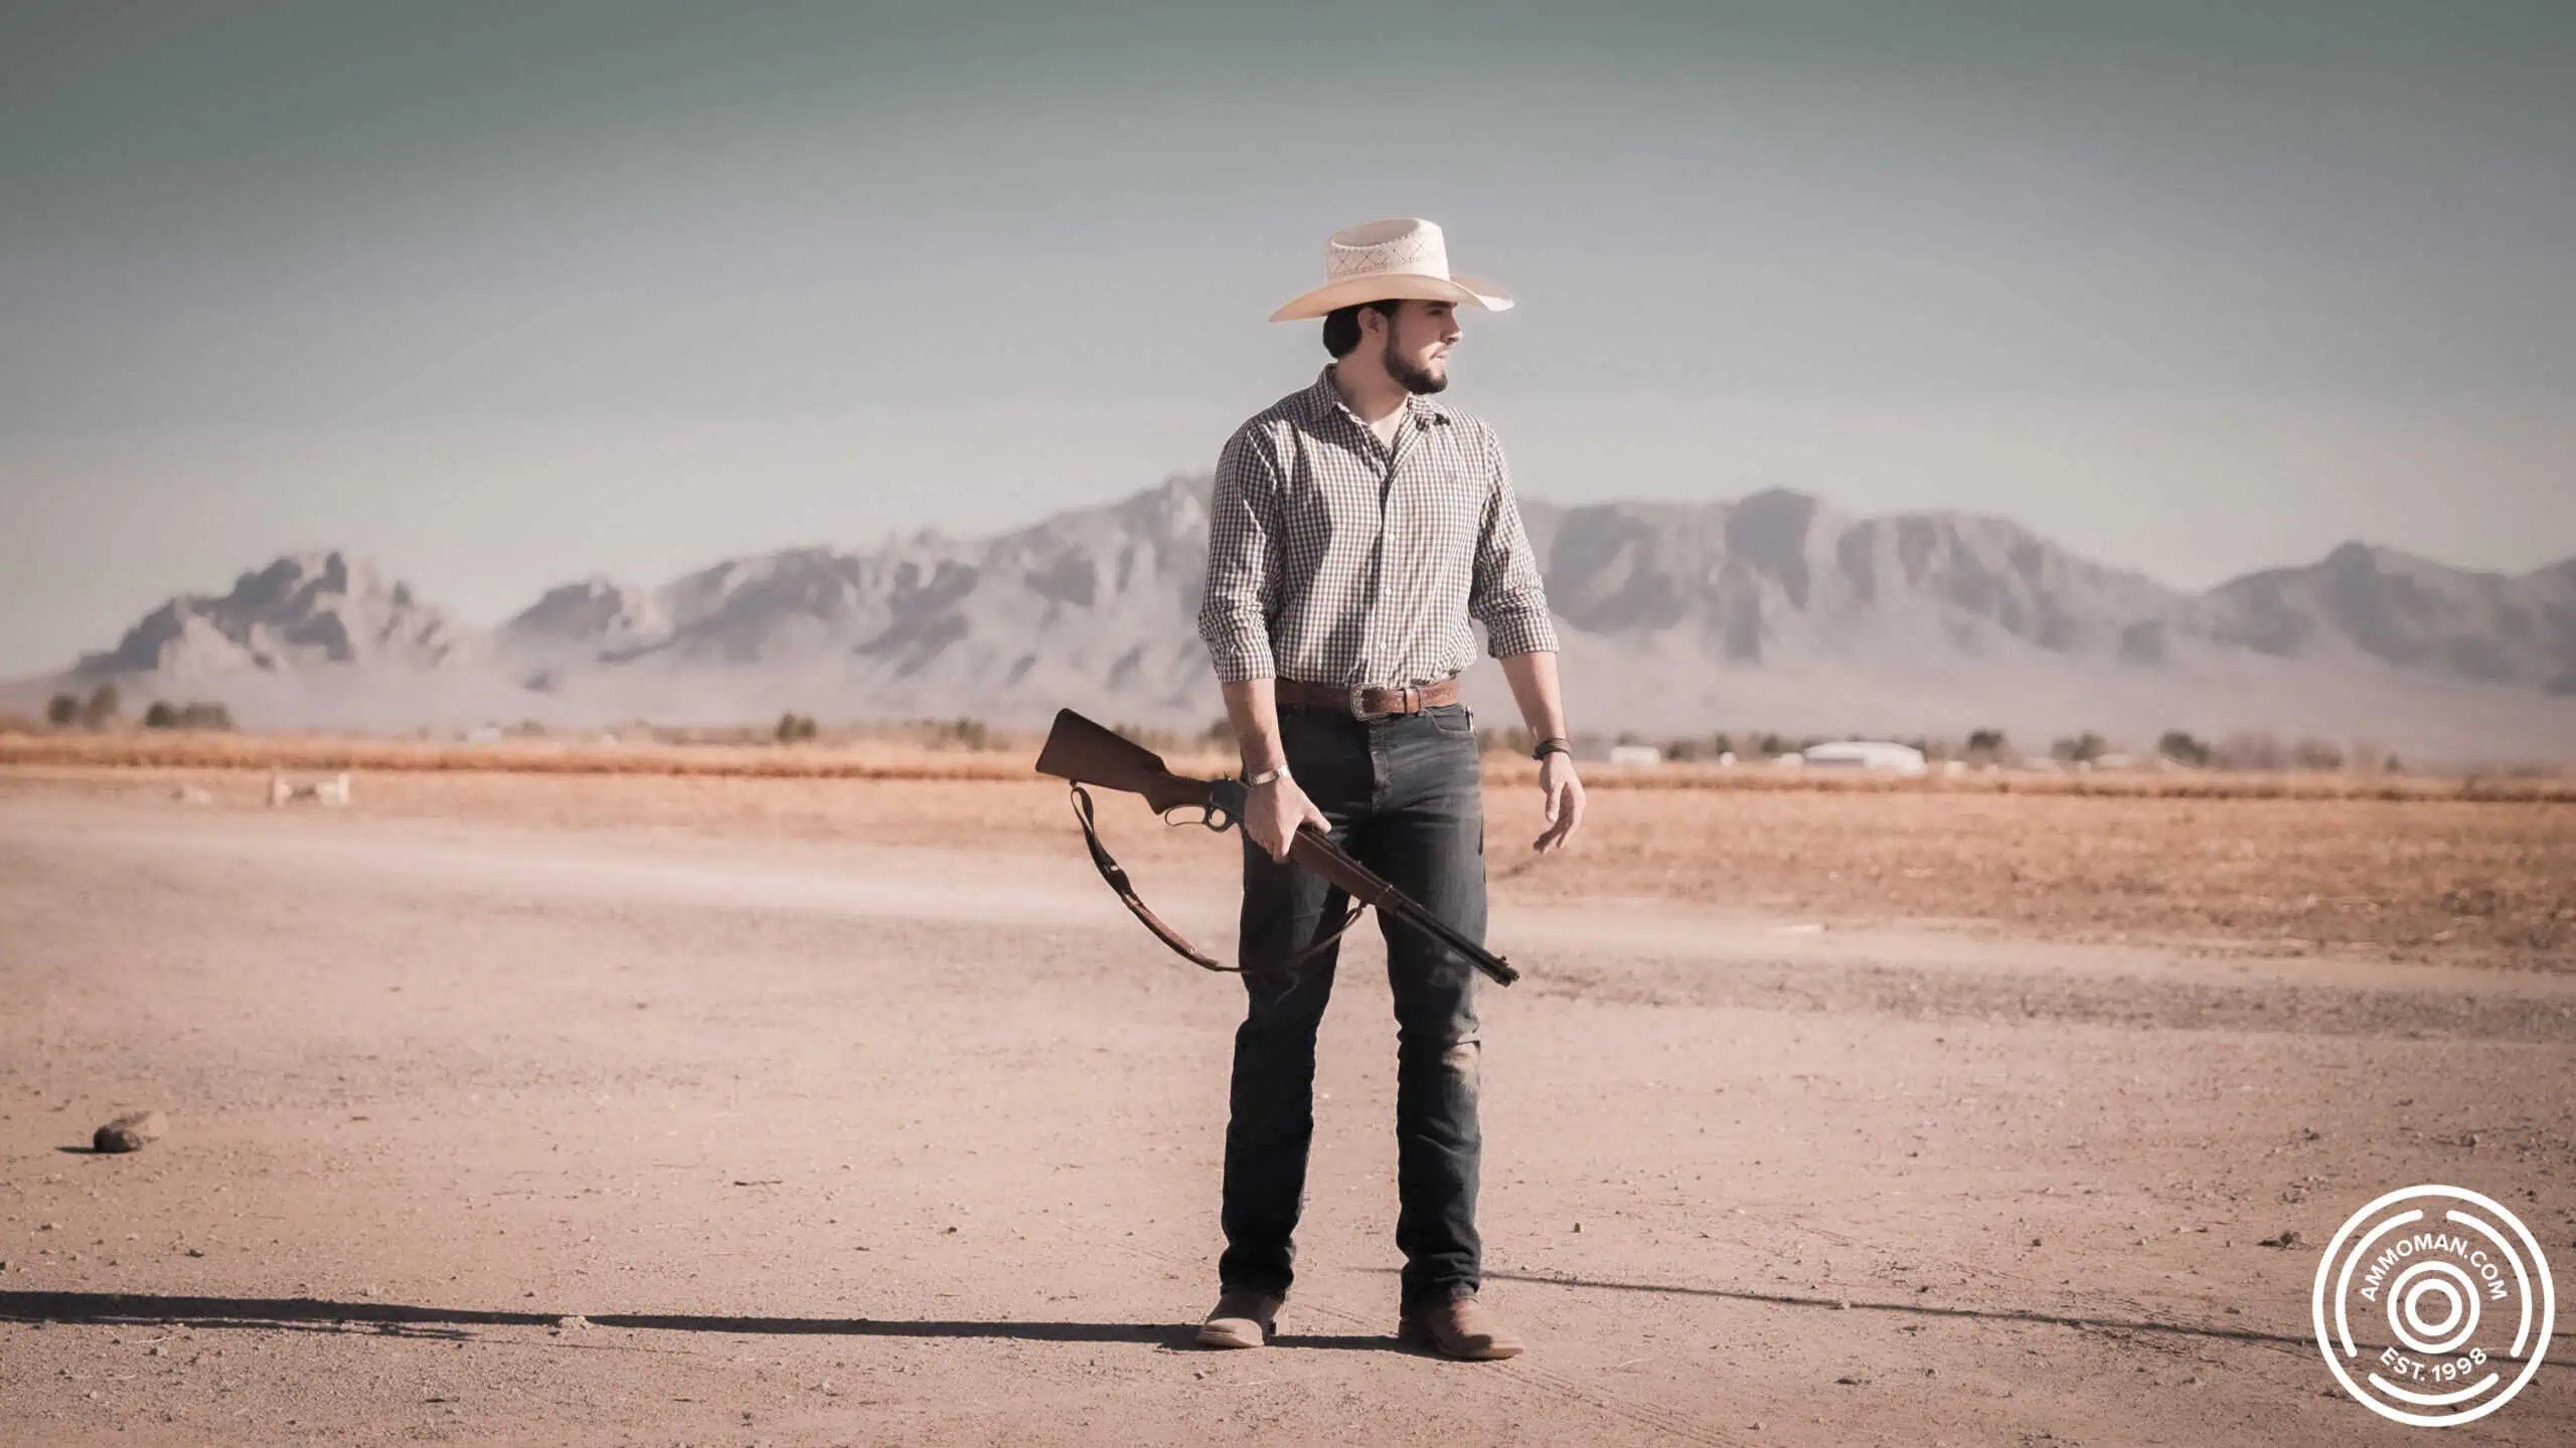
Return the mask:
M1103 729L1072 709L1056 711L1056 727L1048 729L1046 747L1038 750L1038 773L1072 781L1074 819L1082 822L1082 840L1092 848L1092 863L1100 866L1100 879L1110 881L1118 899L1136 912L1136 920L1144 920L1146 930L1203 969L1239 969L1216 964L1206 951L1185 940L1177 930L1146 910L1144 899L1136 899L1136 886L1128 884L1126 868L1121 868L1118 861L1110 858L1108 848L1100 845L1100 830L1092 824L1092 796L1082 786L1090 783L1141 794L1144 801L1154 806L1154 814L1162 814L1167 824L1206 824L1208 830L1226 832L1244 817L1244 804L1249 801L1244 781L1177 776L1154 750L1146 750L1115 729ZM1195 814L1188 814L1193 809ZM1363 910L1378 907L1381 917L1401 920L1404 925L1440 940L1450 951L1458 951L1479 971L1494 976L1497 984L1512 984L1520 979L1520 971L1515 971L1510 961L1486 951L1476 940L1468 940L1448 920L1422 910L1422 904L1409 894L1386 884L1368 866L1342 853L1342 848L1314 824L1298 824L1296 840L1288 845L1288 861L1337 884L1352 904L1350 915L1342 917L1342 925L1334 928L1332 935L1324 935L1321 940L1301 948L1296 956L1288 956L1280 961L1280 969L1296 966L1324 946L1332 946L1342 938L1342 930L1350 930L1352 920L1358 920Z

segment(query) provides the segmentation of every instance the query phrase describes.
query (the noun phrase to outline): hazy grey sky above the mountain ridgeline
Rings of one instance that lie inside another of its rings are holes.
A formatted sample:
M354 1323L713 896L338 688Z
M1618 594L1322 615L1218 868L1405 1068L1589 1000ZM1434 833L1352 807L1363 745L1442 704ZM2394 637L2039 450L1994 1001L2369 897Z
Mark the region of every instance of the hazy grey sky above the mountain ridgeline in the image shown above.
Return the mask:
M2576 554L2563 3L914 10L0 0L0 675L1203 472L1376 216L1535 497Z

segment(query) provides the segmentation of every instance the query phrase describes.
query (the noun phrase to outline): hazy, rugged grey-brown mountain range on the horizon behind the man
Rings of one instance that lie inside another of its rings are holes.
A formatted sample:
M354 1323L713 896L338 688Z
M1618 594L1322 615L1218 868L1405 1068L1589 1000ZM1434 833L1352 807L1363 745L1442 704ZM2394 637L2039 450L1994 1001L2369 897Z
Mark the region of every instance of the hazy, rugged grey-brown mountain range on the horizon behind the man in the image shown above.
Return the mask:
M289 554L180 595L0 709L116 683L250 727L1221 714L1195 631L1208 479L989 538L791 549L647 587L590 577L497 629L368 559ZM1968 513L1522 500L1579 727L1965 734L2236 729L2450 763L2576 757L2576 559L2527 575L2344 544L2205 593ZM1468 675L1512 719L1492 662Z

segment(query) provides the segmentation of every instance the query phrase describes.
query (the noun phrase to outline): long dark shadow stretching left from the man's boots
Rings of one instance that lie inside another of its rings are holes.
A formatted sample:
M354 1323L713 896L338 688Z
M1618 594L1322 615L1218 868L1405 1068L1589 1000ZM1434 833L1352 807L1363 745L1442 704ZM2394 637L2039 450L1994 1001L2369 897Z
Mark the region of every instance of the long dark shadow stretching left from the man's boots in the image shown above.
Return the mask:
M276 1327L337 1332L374 1327L389 1337L471 1337L474 1327L564 1327L562 1311L487 1311L407 1306L392 1301L325 1301L309 1296L157 1296L157 1293L0 1293L0 1322ZM783 1337L994 1337L1012 1342L1146 1342L1198 1350L1198 1324L1159 1322L917 1322L878 1317L698 1317L595 1311L582 1327L636 1332L747 1332ZM1394 1337L1278 1335L1275 1348L1412 1353Z

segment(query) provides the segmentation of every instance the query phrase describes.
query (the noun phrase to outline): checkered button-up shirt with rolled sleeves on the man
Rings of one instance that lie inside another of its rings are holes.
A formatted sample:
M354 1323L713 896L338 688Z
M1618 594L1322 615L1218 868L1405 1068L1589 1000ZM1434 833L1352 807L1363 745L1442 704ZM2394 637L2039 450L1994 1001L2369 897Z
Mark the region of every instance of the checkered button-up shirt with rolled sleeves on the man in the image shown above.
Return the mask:
M1216 678L1414 685L1553 652L1548 595L1494 428L1406 397L1394 448L1332 386L1280 397L1226 438L1198 636Z

